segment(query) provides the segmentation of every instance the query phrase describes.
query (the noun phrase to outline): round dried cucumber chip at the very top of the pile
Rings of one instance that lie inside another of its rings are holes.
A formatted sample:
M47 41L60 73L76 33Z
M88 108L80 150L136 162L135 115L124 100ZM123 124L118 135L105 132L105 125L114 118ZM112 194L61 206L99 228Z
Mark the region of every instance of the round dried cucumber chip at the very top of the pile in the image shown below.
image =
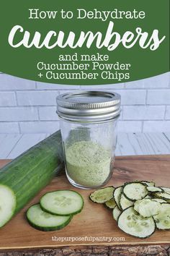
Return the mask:
M123 194L129 200L135 201L146 197L148 190L146 189L146 185L140 182L128 182L123 187Z

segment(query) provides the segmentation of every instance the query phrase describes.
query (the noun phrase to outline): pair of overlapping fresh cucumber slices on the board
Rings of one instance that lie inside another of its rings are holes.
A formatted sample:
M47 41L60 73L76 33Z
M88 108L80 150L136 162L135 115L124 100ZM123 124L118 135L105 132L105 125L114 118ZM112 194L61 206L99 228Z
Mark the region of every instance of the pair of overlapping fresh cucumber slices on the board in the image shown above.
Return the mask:
M27 210L27 221L41 231L63 229L83 207L83 197L73 190L48 192L41 197L40 204Z

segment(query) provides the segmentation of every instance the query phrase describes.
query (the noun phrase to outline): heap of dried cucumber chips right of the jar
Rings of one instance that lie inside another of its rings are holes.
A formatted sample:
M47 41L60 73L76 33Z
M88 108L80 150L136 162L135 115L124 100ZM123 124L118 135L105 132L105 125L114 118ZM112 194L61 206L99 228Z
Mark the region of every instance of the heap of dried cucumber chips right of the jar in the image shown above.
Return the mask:
M102 192L106 192L107 187L97 191L101 200ZM104 203L109 205L111 201L112 207L109 208L112 208L112 216L127 234L147 238L156 229L170 230L168 187L156 187L155 182L148 181L126 182L116 187L112 199Z

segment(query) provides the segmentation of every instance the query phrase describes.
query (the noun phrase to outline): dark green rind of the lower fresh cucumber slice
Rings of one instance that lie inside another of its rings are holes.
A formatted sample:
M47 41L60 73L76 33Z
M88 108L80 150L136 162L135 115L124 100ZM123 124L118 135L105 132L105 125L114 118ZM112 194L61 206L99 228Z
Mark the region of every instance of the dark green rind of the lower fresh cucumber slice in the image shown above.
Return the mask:
M37 204L35 204L35 205L37 205ZM32 205L33 206L33 205ZM31 206L31 207L32 207ZM29 208L28 208L28 210L29 210ZM27 210L27 211L28 211ZM25 213L25 217L27 218L27 212ZM42 226L37 226L37 225L35 225L35 223L33 223L32 221L30 221L30 219L29 218L27 218L27 221L28 221L28 223L30 224L30 226L32 226L32 228L34 228L34 229L37 229L37 230L40 230L40 231L55 231L55 230L61 230L61 229L63 229L65 226L67 226L70 222L71 222L71 219L73 218L73 216L70 216L70 218L68 218L68 221L66 221L65 223L63 223L62 225L60 225L60 226L57 226L57 227L55 227L55 226L53 226L53 227L42 227Z

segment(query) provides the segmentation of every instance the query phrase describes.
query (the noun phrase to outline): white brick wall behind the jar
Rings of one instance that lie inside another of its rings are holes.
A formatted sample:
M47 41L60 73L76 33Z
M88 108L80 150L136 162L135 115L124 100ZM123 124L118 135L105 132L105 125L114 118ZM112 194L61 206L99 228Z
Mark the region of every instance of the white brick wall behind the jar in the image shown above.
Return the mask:
M0 74L0 133L54 132L56 96L110 90L122 96L120 132L170 132L170 73L117 85L53 85Z

